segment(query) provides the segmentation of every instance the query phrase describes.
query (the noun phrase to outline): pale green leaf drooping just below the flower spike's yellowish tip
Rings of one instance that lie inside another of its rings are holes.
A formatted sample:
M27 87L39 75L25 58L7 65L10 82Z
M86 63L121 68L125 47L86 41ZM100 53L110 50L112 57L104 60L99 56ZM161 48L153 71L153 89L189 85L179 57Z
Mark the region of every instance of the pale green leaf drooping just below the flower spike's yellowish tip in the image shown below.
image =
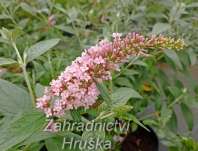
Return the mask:
M171 59L171 61L179 68L182 70L182 64L180 62L180 59L177 55L177 53L173 50L165 50L164 53L166 54L166 56Z

